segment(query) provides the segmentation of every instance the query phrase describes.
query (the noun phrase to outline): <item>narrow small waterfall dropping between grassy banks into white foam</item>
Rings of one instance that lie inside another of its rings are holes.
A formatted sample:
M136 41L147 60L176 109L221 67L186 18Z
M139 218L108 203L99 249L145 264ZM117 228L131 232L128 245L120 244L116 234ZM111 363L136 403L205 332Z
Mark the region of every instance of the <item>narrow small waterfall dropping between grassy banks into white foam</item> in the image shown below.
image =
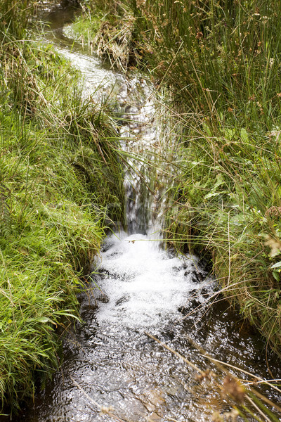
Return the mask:
M123 148L130 157L125 176L127 231L161 240L172 138L165 136L155 87L142 77L127 84L122 127Z

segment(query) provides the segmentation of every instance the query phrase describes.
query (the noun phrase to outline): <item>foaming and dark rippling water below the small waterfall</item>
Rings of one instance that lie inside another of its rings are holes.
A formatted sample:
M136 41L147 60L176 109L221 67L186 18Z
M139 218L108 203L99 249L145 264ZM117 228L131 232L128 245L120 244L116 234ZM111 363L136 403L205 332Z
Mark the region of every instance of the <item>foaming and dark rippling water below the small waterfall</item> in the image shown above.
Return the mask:
M93 284L79 298L84 324L65 339L61 371L22 420L115 420L100 413L106 407L124 421L211 421L214 409L228 410L214 386L148 336L202 370L218 373L190 339L217 359L267 376L259 337L224 302L208 307L213 292L194 257L179 259L141 234L107 238Z

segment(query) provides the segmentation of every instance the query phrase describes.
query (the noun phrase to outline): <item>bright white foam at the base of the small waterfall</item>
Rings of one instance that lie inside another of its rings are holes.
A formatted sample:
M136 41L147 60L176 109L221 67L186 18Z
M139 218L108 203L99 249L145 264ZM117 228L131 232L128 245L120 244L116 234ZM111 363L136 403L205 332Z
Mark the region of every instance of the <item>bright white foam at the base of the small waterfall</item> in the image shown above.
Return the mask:
M97 312L100 324L158 326L176 317L190 290L202 286L192 277L195 257L180 259L142 234L112 235L108 242L98 268L103 274L98 286L108 299Z

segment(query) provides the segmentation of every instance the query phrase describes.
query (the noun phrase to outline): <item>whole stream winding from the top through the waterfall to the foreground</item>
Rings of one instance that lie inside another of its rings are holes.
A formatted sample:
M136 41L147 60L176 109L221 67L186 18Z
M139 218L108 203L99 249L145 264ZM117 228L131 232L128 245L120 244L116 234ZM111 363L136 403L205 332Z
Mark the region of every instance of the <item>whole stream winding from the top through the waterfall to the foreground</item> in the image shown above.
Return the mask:
M83 51L70 30L63 30L67 11L58 8L49 18L46 41L81 70L84 95L93 94L99 101L110 91L119 111L124 110L124 148L148 156L157 146L164 155L149 84L114 72ZM100 85L103 88L97 89ZM216 283L199 260L176 257L160 247L162 192L157 198L143 194L143 186L150 191L153 172L145 166L138 165L137 172L126 176L128 233L106 239L92 286L79 297L84 324L65 338L62 368L20 421L211 421L215 410L230 410L214 383L196 377L195 369L151 335L203 371L219 373L196 345L255 376L272 378L269 367L278 377L277 363L266 358L259 335L251 333L223 300L210 305ZM141 188L140 173L145 178ZM164 176L158 169L157 177ZM276 391L261 392L280 403Z

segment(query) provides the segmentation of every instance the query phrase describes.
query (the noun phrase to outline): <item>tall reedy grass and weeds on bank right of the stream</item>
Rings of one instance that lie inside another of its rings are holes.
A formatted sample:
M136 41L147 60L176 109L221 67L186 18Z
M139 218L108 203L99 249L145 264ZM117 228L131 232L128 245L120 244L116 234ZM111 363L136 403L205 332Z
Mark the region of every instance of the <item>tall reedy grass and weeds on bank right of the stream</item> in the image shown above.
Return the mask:
M82 4L100 56L169 88L167 240L211 258L223 293L280 354L280 1Z

